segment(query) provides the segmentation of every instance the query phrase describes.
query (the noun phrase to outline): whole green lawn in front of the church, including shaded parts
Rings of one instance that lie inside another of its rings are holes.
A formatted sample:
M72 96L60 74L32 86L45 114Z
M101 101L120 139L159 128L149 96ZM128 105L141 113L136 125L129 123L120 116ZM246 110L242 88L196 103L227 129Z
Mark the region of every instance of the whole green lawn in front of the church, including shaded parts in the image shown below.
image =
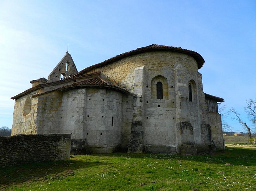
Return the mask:
M256 150L93 154L0 168L0 190L256 190ZM225 165L225 164L232 165Z

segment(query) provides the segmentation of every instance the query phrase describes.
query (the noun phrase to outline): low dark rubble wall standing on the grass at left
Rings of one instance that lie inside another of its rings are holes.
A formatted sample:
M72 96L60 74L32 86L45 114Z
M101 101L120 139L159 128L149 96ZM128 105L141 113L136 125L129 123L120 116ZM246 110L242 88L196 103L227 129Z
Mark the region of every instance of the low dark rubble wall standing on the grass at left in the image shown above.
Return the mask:
M0 167L27 162L69 160L71 134L19 134L0 137Z

